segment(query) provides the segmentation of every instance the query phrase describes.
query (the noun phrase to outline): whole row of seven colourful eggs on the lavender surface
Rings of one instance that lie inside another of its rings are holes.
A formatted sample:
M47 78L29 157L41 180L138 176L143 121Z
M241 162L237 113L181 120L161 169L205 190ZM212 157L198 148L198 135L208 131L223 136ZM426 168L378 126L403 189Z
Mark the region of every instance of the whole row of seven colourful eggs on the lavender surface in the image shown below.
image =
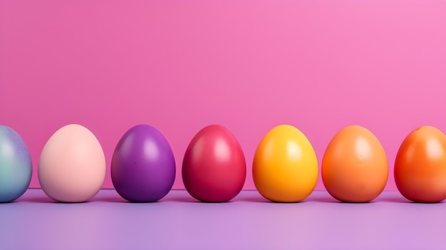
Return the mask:
M410 132L395 160L395 183L414 202L446 199L446 136L435 127ZM31 180L25 142L0 125L0 202L20 197ZM242 147L229 130L209 125L193 137L182 162L187 192L203 202L227 202L246 179ZM291 125L279 125L259 143L252 166L259 193L273 202L300 202L313 192L318 160L311 142ZM358 125L344 127L328 144L321 164L323 184L341 202L369 202L383 192L388 160L379 140ZM115 147L113 186L130 202L155 202L175 180L175 158L155 127L130 128ZM95 135L81 125L66 125L46 142L38 163L43 192L59 202L85 202L105 179L105 156Z

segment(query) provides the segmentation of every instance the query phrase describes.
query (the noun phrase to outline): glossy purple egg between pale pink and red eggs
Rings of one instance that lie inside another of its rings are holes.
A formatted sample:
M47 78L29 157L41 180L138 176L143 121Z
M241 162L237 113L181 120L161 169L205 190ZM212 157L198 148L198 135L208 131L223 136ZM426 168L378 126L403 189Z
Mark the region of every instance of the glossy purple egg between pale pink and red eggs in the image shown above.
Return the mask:
M172 189L175 158L155 127L137 125L118 142L111 162L116 192L130 202L156 202Z

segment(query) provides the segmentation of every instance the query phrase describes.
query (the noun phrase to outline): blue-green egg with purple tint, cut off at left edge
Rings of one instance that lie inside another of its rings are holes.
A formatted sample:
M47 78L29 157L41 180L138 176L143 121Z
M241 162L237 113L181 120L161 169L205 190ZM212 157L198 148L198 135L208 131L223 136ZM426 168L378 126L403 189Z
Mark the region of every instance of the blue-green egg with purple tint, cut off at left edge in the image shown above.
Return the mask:
M24 140L0 125L0 202L21 197L31 182L32 162Z

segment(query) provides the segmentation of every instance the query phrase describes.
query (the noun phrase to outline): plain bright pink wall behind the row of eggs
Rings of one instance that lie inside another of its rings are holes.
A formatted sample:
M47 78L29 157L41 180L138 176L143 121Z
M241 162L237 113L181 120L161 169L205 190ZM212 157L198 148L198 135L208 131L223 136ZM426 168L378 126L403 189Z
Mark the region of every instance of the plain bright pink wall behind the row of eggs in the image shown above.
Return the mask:
M183 188L188 143L217 123L239 139L253 189L254 150L274 125L302 130L320 164L357 124L383 143L395 189L408 132L446 131L445 94L446 1L0 0L0 123L24 137L34 170L63 125L88 127L110 165L123 133L147 123Z

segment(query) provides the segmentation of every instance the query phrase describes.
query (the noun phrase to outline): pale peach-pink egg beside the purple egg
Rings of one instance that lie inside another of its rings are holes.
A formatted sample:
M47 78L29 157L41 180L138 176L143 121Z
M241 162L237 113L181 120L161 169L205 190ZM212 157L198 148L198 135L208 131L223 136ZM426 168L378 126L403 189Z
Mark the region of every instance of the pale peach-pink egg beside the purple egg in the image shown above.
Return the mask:
M38 162L38 181L48 197L86 202L99 192L104 179L104 152L90 130L71 124L51 135Z

